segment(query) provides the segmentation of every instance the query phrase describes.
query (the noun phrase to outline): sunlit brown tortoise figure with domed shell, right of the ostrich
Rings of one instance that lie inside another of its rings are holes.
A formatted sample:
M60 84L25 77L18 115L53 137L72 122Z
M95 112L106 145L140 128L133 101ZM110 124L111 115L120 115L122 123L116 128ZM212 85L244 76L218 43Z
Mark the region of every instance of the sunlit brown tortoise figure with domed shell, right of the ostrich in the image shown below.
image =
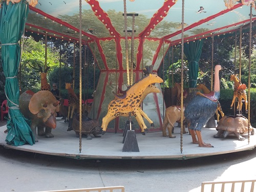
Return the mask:
M224 116L219 121L216 127L218 133L214 135L214 138L224 137L226 138L229 134L234 134L237 136L239 141L245 140L241 135L248 132L248 119L243 115L236 116ZM254 128L250 125L250 133L254 135Z

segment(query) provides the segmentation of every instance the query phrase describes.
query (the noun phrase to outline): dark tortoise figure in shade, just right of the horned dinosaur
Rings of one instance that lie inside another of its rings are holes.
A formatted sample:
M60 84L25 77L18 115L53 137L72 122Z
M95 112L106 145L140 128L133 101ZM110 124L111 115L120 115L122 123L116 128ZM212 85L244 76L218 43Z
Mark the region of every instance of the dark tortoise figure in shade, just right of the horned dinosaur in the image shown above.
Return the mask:
M76 136L79 137L79 113L73 118L72 124L73 130L76 132ZM101 137L99 134L102 133L99 121L97 119L91 119L86 115L82 114L82 136L87 137L88 140L92 139L90 134L93 134L94 137Z

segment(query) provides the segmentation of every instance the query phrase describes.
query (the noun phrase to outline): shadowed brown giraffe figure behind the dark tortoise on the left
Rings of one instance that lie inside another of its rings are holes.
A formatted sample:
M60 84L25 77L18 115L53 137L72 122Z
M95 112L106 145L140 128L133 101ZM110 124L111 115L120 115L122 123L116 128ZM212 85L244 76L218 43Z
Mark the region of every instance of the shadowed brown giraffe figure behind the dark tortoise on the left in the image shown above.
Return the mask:
M69 93L69 111L68 111L67 119L70 122L69 128L67 131L72 130L72 120L70 120L70 119L73 119L74 111L75 111L75 109L77 109L79 107L79 100L71 86L72 86L72 83L66 82L66 90L68 90L68 93ZM71 111L71 108L72 108L72 111Z

